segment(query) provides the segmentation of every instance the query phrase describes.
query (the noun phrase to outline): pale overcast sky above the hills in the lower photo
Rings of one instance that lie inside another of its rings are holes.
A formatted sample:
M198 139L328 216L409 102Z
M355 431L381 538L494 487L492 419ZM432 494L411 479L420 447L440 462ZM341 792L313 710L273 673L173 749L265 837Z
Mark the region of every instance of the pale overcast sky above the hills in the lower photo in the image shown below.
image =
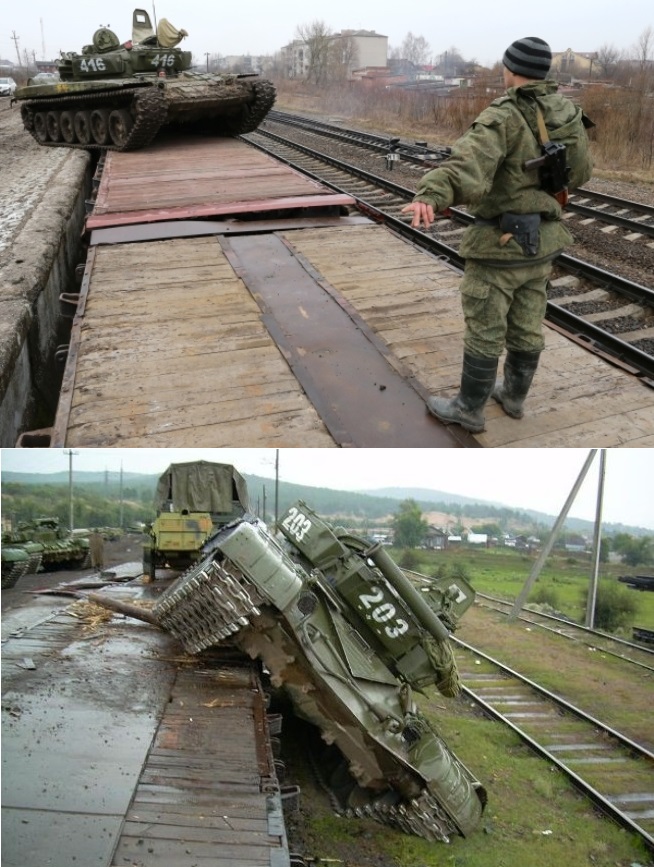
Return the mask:
M558 515L589 449L280 449L287 482L336 490L419 487ZM168 464L208 460L275 477L275 449L79 449L76 470L162 473ZM68 470L63 449L2 449L0 466L18 472ZM595 455L570 515L594 520ZM607 449L603 520L654 530L654 449Z

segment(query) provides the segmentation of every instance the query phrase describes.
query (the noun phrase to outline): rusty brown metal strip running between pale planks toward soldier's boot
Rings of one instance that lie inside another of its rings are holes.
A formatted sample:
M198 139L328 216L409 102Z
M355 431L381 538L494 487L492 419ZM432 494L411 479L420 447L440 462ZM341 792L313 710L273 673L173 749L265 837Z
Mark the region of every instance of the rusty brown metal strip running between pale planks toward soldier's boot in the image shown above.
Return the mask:
M275 235L222 241L329 432L347 447L474 445L427 415L410 378L333 287ZM329 289L329 291L327 291Z

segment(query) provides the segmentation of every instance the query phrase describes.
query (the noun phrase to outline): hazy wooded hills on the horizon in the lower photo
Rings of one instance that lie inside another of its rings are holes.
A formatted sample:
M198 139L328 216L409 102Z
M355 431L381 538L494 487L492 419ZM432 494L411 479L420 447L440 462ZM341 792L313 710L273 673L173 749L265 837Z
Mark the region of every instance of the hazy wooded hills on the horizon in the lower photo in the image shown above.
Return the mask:
M13 474L15 478L16 474ZM85 474L80 474L85 475ZM148 524L157 514L154 495L159 475L130 474L124 482L108 475L89 474L90 479L78 480L73 489L73 513L76 528L127 528ZM298 500L304 500L318 514L335 523L343 524L361 535L376 532L392 534L396 547L418 547L424 542L428 528L425 513L441 512L449 515L448 530L460 534L466 528L475 533L500 537L504 533L521 532L546 539L549 527L523 510L510 509L475 502L451 503L418 501L413 498L398 500L391 496L374 496L352 491L335 491L280 481L245 476L250 493L252 511L272 523L277 514ZM67 483L43 483L38 476L30 482L5 480L2 485L2 514L15 526L19 521L53 516L61 526L69 525L70 498ZM475 523L475 521L477 522ZM465 521L465 524L464 524ZM591 525L592 526L592 525ZM573 531L561 534L565 544ZM623 562L638 566L654 562L654 539L647 535L628 532L605 534L602 540L603 559L608 552L618 553Z

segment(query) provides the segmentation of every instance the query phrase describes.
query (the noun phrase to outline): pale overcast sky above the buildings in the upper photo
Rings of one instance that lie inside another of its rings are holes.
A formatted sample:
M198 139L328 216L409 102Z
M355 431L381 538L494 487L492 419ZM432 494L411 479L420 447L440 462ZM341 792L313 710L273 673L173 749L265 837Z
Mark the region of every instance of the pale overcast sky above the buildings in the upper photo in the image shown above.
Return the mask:
M150 3L135 0L5 0L0 31L0 58L16 60L32 52L38 60L59 51L80 51L94 31L110 26L121 42L131 38L132 12ZM422 36L433 55L451 47L467 60L492 65L506 47L523 36L539 36L554 51L596 51L609 44L629 50L654 22L651 0L547 0L502 5L488 0L466 3L400 3L394 0L249 0L221 3L185 0L155 4L156 18L167 18L188 31L183 47L204 62L205 52L220 55L274 54L295 36L298 25L322 21L332 32L374 30L399 47L407 33ZM43 45L45 44L45 50Z

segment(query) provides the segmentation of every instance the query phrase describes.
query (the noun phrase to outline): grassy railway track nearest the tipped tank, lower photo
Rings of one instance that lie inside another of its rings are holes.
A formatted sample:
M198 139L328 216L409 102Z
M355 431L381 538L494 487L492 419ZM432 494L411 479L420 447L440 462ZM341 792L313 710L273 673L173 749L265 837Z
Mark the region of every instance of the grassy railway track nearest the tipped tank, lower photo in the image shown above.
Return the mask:
M451 641L463 694L654 851L654 754L493 657Z

